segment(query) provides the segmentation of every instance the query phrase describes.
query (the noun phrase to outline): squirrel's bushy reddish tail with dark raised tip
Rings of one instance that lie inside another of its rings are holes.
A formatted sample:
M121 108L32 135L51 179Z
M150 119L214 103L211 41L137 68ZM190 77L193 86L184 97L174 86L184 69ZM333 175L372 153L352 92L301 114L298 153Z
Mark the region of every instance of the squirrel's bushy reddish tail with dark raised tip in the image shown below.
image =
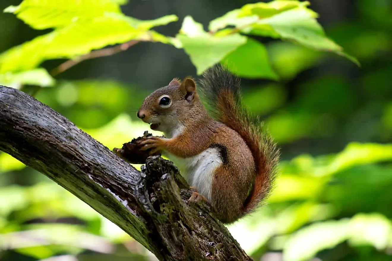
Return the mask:
M207 108L218 121L237 131L249 146L256 164L256 176L243 212L255 209L270 190L276 174L279 149L262 128L257 118L251 117L241 102L240 80L220 65L203 74L201 93Z

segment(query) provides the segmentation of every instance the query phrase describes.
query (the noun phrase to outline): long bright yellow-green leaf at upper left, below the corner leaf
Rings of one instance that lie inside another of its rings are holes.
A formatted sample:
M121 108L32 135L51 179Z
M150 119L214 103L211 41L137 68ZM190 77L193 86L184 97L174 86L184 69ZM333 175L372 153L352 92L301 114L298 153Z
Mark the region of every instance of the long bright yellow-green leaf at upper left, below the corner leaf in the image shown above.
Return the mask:
M31 70L46 59L75 58L129 40L168 42L165 36L148 29L176 19L176 16L164 16L142 21L122 14L105 13L89 21L76 21L1 54L0 73Z

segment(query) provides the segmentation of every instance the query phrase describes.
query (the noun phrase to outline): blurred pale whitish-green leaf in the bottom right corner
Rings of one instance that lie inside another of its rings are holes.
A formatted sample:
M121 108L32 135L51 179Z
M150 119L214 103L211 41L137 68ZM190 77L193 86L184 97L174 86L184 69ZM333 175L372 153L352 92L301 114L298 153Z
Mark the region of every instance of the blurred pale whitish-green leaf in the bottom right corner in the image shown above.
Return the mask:
M283 259L305 261L319 251L348 240L353 246L383 250L392 245L392 223L382 214L356 214L351 219L314 223L294 233L283 249Z

